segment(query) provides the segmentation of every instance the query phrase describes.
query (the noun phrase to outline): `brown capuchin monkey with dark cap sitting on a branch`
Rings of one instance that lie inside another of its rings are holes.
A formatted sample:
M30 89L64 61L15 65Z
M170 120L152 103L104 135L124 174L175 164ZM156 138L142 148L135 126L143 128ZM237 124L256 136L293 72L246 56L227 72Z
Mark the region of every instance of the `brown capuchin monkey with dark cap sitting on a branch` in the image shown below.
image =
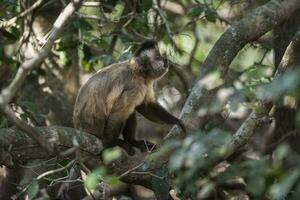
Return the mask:
M80 88L73 113L75 128L100 138L104 148L120 146L129 155L135 153L133 147L146 151L153 145L136 140L136 112L153 122L177 124L185 132L182 121L155 99L153 83L167 71L157 43L145 41L132 59L99 70Z

